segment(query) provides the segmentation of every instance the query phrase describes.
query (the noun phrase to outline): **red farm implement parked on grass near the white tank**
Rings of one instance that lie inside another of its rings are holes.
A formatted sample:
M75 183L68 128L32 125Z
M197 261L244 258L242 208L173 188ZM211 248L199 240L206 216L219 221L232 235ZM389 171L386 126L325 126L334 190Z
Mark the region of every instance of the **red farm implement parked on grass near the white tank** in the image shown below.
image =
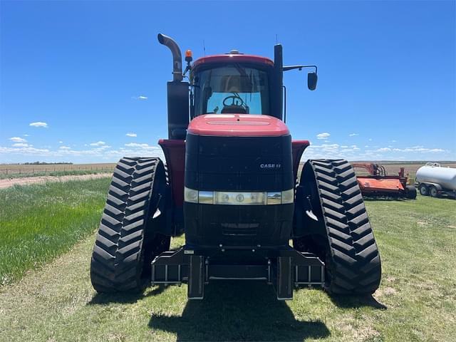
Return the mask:
M363 196L416 199L415 186L407 185L408 176L404 174L403 167L400 167L398 175L388 175L383 165L372 162L353 163L352 166L368 171L368 175L357 177Z

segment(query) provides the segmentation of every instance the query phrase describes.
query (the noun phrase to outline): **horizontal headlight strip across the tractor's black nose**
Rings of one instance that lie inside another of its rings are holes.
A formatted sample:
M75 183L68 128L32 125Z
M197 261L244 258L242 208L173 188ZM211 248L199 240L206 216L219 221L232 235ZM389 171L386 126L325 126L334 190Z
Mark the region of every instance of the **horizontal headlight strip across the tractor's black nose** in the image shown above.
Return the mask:
M184 200L200 204L274 205L294 202L294 189L275 192L198 191L184 188Z

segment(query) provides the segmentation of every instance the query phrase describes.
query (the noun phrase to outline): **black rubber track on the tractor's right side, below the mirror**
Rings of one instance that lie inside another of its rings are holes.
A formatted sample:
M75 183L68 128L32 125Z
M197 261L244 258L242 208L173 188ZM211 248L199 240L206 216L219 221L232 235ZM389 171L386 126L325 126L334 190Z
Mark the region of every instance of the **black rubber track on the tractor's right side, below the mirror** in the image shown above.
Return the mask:
M309 160L301 182L307 182L304 195L314 197L321 222L326 289L333 294L373 294L380 284L380 255L353 167L346 160Z

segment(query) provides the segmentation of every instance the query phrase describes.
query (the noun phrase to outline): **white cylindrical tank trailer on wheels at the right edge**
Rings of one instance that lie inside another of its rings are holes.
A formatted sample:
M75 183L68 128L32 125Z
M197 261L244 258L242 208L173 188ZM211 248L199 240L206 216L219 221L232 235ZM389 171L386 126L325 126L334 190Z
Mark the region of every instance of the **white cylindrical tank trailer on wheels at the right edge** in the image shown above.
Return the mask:
M415 185L423 196L448 195L456 199L456 169L428 162L416 172Z

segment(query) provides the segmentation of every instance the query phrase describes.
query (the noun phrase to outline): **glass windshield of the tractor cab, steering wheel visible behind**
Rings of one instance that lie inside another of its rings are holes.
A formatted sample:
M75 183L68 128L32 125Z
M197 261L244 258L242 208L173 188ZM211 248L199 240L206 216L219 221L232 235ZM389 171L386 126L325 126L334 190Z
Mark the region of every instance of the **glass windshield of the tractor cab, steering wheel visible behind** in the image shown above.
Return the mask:
M195 115L269 114L266 71L234 63L197 73L193 85Z

